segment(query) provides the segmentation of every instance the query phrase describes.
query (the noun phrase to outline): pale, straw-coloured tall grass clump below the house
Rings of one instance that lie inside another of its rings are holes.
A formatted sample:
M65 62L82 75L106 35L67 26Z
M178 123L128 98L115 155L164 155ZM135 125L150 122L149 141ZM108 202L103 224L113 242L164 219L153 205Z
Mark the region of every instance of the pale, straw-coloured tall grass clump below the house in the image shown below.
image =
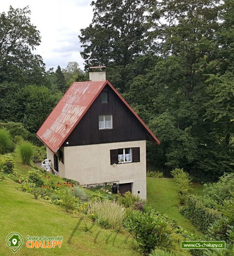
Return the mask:
M103 201L92 201L88 213L101 226L119 230L122 226L126 209L116 201L107 198Z

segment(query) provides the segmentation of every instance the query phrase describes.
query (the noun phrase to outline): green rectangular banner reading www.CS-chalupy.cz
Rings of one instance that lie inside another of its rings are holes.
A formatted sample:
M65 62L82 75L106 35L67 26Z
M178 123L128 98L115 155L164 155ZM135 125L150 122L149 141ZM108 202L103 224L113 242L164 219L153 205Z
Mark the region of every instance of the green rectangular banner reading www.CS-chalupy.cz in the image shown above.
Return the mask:
M182 241L181 249L225 249L223 241Z

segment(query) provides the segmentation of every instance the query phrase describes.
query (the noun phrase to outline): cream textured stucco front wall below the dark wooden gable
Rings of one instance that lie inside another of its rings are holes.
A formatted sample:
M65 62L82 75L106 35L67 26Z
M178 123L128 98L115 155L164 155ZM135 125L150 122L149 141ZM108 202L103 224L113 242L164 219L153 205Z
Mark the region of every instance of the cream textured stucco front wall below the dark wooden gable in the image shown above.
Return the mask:
M140 162L110 164L110 149L140 147ZM132 192L146 199L146 141L128 141L64 147L65 176L81 185L111 182L133 182ZM62 151L63 151L62 150ZM61 165L62 163L60 163ZM61 167L60 167L61 168Z

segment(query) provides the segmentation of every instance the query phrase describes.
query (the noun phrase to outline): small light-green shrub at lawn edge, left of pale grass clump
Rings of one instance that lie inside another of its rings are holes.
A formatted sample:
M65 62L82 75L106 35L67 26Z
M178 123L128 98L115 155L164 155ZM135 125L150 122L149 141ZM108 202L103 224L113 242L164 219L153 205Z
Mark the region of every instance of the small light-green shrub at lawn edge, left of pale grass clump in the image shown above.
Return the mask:
M78 199L72 195L70 189L59 189L56 193L60 198L61 206L66 209L66 212L68 212L69 209L74 210L76 208Z

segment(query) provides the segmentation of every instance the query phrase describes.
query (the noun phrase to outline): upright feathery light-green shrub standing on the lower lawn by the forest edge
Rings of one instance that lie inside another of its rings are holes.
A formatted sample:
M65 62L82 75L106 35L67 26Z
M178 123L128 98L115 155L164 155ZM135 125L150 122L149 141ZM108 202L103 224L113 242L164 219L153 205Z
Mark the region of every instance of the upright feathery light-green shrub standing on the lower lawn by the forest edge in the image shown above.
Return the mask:
M171 172L175 186L178 192L179 201L181 204L185 204L188 199L188 190L191 188L191 178L187 172L182 169L175 168Z

